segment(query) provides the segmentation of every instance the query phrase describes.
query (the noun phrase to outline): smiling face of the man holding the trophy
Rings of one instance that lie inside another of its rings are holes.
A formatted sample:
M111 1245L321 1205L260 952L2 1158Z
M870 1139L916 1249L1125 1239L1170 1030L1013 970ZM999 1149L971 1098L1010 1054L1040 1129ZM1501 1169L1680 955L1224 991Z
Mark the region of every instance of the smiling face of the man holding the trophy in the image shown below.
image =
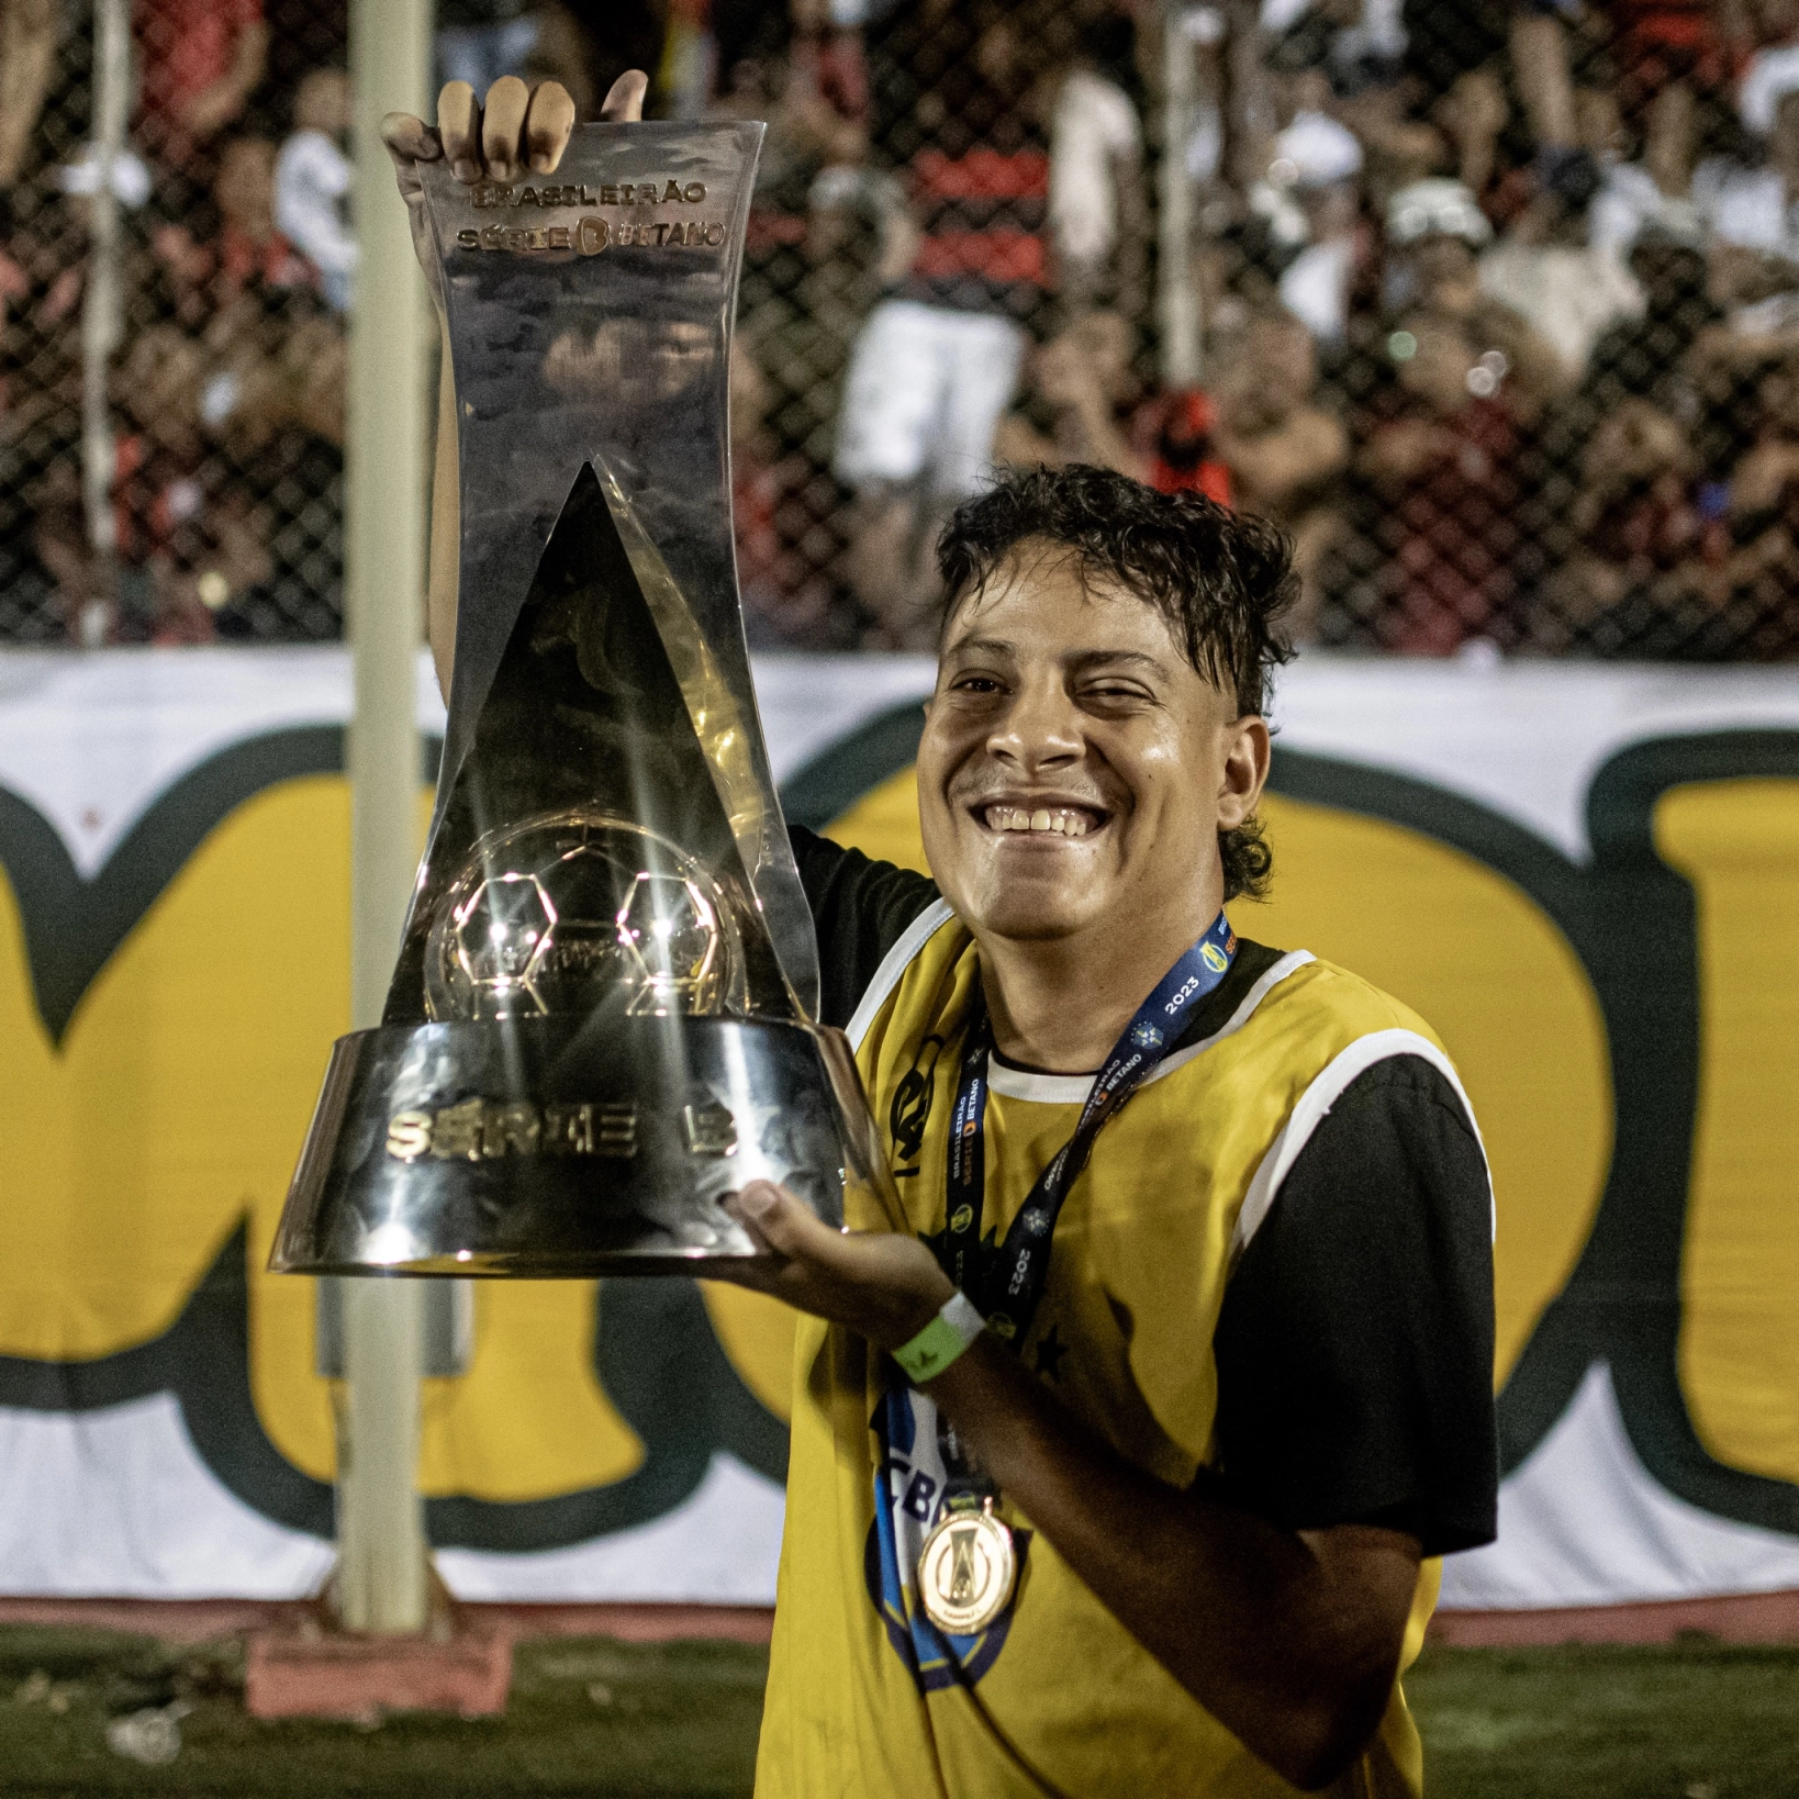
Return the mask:
M1173 961L1218 912L1218 831L1266 772L1266 725L1236 716L1153 606L1031 541L944 633L917 756L925 853L977 935L1148 932Z

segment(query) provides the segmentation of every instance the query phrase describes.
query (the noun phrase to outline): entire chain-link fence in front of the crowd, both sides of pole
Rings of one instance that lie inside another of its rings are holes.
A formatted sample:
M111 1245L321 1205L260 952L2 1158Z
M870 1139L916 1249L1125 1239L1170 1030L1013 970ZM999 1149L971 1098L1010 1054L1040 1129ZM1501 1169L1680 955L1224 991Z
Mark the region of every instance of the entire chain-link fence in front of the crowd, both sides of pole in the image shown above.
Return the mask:
M1279 520L1302 640L1799 644L1799 0L437 27L443 76L590 117L635 63L653 113L768 122L732 369L759 646L926 644L937 525L1036 461ZM0 640L336 635L344 61L331 5L0 0Z

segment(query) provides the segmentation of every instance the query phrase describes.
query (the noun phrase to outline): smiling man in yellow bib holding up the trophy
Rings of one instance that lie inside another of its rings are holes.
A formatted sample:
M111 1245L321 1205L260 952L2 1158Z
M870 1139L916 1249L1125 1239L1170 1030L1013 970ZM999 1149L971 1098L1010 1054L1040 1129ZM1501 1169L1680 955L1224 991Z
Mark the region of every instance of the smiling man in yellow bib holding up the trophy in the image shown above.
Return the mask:
M412 189L547 173L570 117L387 135ZM1493 1533L1491 1200L1428 1029L1222 914L1268 873L1284 541L1070 468L941 565L935 883L795 833L892 1198L734 1202L811 1315L757 1790L1416 1794L1398 1671Z

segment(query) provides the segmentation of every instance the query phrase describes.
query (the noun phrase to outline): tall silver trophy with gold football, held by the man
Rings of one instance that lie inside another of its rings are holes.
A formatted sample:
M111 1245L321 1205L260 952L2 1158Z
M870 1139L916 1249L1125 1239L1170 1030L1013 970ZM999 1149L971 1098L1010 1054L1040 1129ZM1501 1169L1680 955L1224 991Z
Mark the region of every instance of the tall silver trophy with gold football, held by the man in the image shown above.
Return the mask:
M581 126L425 178L461 450L455 678L383 1022L270 1266L703 1272L723 1198L885 1187L750 687L727 381L757 124Z

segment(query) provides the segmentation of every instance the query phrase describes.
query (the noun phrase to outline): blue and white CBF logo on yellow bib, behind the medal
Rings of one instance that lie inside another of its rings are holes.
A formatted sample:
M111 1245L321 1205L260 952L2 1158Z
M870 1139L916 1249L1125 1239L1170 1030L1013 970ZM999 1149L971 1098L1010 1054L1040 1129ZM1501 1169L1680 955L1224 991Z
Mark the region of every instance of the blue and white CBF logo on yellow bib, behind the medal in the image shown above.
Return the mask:
M887 1394L869 1428L876 1455L874 1524L864 1556L869 1598L921 1693L973 1686L1006 1648L1011 1607L979 1635L952 1637L925 1616L914 1585L925 1536L943 1509L946 1425L930 1400L901 1387ZM1029 1538L1029 1531L1013 1538L1020 1576Z

